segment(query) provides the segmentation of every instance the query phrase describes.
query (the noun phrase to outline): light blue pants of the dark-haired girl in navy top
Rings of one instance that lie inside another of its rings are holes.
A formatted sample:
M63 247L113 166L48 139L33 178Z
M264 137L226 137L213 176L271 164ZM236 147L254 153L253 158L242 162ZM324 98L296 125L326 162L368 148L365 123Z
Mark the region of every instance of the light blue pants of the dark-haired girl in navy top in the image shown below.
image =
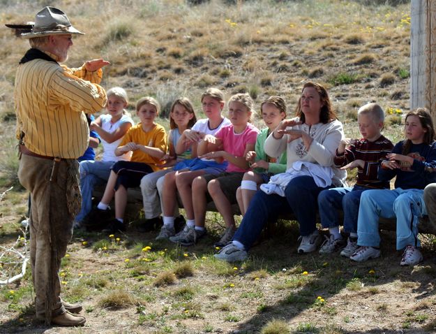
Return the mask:
M367 190L361 196L357 245L379 247L379 217L397 217L397 250L420 246L418 218L427 214L423 189Z

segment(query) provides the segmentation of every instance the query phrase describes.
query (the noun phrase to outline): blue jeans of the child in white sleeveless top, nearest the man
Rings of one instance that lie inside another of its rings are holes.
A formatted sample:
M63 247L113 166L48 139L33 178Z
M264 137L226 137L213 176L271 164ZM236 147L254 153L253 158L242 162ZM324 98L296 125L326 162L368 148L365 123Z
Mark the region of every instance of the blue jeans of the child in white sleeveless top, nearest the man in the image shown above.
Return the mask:
M80 163L80 192L82 208L75 217L76 222L82 222L92 209L92 191L97 184L103 184L109 179L110 168L114 161L84 160Z

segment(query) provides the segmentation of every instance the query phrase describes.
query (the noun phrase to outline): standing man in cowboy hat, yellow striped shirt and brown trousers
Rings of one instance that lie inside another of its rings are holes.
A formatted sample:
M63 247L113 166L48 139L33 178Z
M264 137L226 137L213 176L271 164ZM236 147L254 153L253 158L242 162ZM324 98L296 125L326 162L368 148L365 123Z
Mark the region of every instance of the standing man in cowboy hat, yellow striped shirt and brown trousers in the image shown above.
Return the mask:
M36 291L35 310L46 324L82 326L73 313L82 305L61 300L59 267L73 233L73 217L80 208L77 157L88 146L84 110L98 112L106 103L98 85L103 59L68 68L66 61L75 29L63 11L45 7L36 14L15 77L17 139L20 140L21 184L31 193L31 269Z

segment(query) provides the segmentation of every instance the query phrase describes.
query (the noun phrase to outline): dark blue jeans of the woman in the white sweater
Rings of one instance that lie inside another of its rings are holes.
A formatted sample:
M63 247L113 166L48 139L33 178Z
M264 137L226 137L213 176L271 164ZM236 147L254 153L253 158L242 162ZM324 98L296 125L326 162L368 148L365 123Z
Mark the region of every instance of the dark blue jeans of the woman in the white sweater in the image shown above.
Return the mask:
M317 228L317 196L324 189L327 188L317 187L312 177L299 176L287 184L285 197L257 191L233 240L241 242L246 250L250 249L266 223L271 220L275 222L278 215L286 212L294 212L301 235L310 235Z

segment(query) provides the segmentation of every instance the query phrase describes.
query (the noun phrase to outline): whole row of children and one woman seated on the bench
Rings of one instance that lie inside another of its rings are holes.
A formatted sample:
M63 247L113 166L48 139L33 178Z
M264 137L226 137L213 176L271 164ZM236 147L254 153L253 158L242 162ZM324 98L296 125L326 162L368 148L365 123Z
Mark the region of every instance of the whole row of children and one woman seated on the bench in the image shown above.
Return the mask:
M101 161L80 163L82 211L76 224L96 224L103 231L125 231L127 189L141 187L146 223L142 230L163 226L157 240L194 245L206 235L206 205L213 201L226 224L215 247L217 259L243 261L267 222L293 212L299 222L300 254L340 251L354 261L380 255L379 217L397 219L397 249L402 266L422 261L418 219L426 215L423 189L435 182L436 150L430 113L419 108L405 117L405 140L393 147L382 136L384 112L368 103L358 112L360 139L345 138L329 96L314 82L306 82L296 117L286 118L285 101L270 96L260 113L266 125L250 123L255 115L249 94L235 94L227 103L216 88L202 94L205 119L197 121L192 103L174 101L170 136L157 124L159 103L144 97L137 102L140 123L134 125L125 108L126 92L107 91L107 115L91 122L103 143ZM167 151L167 147L169 150ZM347 187L346 170L357 168L354 187ZM395 189L389 181L396 177ZM91 208L93 187L107 182L103 198ZM186 226L176 233L178 196L186 210ZM115 218L109 204L114 198ZM236 228L232 205L243 219ZM338 210L343 210L344 238ZM324 237L316 228L320 212Z

